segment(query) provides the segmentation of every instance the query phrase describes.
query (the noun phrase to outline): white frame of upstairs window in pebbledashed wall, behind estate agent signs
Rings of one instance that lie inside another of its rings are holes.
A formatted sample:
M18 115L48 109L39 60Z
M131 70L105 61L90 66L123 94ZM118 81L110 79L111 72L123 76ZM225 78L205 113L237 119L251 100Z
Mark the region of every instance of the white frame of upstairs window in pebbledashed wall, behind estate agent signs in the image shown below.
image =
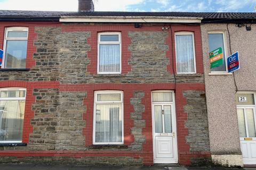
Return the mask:
M228 63L227 63L227 58L228 58L228 50L227 50L227 36L226 36L226 32L225 31L209 31L207 32L207 37L208 37L208 54L210 53L209 50L209 34L222 34L223 37L223 45L224 45L224 50L225 50L225 58L223 58L225 60L226 63L226 71L211 71L211 66L210 66L210 75L218 75L218 74L222 74L222 75L229 75L232 73L228 72ZM209 59L209 63L210 63L210 59Z

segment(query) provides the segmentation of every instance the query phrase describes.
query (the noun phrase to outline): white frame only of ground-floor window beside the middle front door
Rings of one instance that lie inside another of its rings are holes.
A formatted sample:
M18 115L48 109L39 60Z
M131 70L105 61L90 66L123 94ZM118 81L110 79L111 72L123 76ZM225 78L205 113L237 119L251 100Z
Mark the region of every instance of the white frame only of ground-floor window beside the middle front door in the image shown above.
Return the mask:
M98 101L99 94L120 94L121 99L119 101ZM122 105L122 142L95 142L96 135L96 105L97 104L121 104ZM123 145L124 144L124 100L123 91L121 90L99 90L94 91L94 104L93 104L93 145Z

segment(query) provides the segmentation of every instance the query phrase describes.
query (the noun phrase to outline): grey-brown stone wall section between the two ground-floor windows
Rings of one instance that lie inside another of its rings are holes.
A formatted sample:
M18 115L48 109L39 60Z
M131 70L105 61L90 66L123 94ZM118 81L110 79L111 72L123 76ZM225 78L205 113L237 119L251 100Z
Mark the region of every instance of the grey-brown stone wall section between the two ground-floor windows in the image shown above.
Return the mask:
M85 126L83 98L86 92L60 92L59 89L34 89L35 117L28 147L32 150L84 150Z

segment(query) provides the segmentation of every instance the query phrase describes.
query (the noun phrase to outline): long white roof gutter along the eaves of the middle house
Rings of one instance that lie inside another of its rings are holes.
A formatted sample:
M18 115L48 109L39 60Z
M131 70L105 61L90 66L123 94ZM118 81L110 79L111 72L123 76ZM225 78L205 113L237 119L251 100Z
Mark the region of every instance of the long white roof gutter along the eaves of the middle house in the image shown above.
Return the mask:
M61 16L60 22L201 23L203 18L176 16Z

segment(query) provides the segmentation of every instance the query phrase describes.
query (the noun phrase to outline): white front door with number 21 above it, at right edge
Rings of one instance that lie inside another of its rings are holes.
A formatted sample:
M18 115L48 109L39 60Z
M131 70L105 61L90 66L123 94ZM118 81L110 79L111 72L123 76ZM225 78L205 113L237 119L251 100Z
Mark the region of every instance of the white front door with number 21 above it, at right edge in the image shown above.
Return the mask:
M243 94L238 95L245 96ZM251 98L254 100L253 96ZM250 99L250 96L246 97L246 100L248 99ZM254 101L249 101L250 105L245 104L238 103L237 117L244 165L250 165L256 164L256 112L255 106L252 105Z

